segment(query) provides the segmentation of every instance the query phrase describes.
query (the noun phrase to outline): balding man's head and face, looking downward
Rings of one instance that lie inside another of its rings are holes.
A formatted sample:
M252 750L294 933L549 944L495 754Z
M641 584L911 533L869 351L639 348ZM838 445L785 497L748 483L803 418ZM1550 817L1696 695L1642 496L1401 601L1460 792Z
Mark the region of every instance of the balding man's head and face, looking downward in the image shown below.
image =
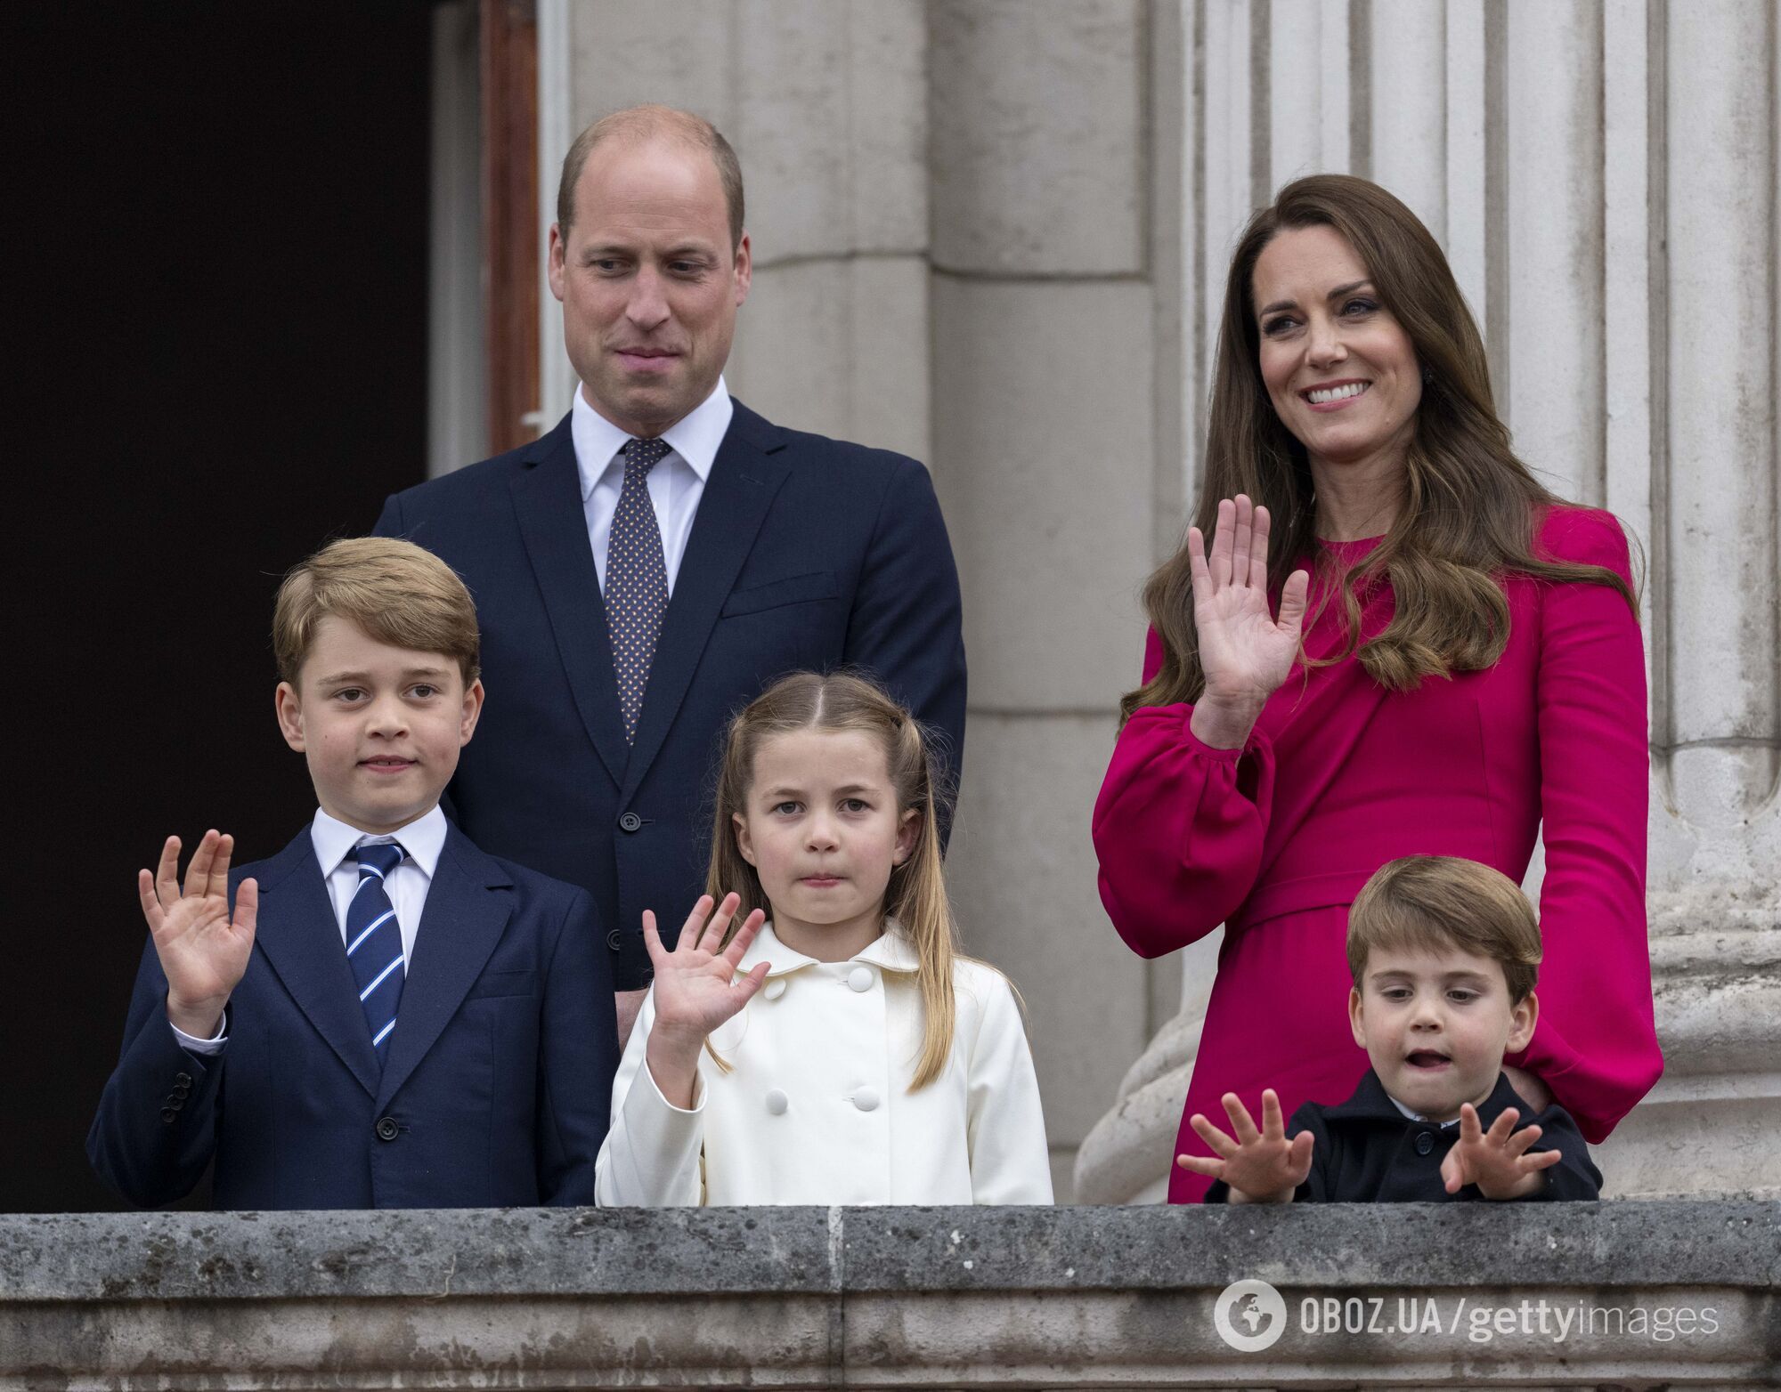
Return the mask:
M593 409L638 436L693 411L718 384L750 281L711 153L664 135L597 144L573 224L550 228L549 276Z

